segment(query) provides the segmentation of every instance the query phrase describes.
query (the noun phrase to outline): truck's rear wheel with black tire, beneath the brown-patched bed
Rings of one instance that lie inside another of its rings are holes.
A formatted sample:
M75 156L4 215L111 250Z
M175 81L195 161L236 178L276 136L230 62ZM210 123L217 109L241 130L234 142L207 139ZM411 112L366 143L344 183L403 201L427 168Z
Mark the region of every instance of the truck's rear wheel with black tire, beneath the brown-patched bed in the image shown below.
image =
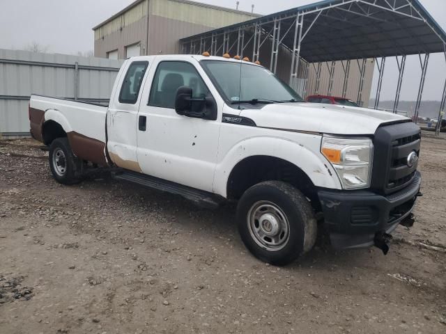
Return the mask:
M61 184L82 181L82 161L73 154L67 138L56 138L49 146L49 169Z

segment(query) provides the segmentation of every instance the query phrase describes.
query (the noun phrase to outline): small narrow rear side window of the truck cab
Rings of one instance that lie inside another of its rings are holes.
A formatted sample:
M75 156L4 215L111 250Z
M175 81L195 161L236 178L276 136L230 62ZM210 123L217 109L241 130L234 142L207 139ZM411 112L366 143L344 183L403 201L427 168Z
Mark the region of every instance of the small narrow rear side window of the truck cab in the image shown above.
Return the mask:
M135 104L138 100L139 89L141 88L144 73L148 66L147 61L134 61L128 67L127 73L119 93L119 102L127 104Z

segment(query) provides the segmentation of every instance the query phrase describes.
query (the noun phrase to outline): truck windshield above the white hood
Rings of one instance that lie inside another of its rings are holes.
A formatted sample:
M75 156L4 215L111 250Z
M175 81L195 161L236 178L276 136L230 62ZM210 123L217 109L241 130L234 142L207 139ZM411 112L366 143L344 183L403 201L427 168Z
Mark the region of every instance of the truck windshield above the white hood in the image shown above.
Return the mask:
M224 100L231 104L303 101L291 87L264 67L229 61L200 63Z

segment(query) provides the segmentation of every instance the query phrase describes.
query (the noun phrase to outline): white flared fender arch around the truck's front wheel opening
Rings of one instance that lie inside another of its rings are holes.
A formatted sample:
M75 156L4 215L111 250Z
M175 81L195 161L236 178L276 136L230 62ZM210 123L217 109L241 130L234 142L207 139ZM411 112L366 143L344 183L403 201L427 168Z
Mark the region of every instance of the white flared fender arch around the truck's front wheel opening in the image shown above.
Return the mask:
M341 189L336 172L319 154L320 145L320 137L309 141L308 146L275 136L258 136L240 141L219 159L215 168L214 192L226 197L231 170L243 159L259 155L289 161L300 168L315 186Z

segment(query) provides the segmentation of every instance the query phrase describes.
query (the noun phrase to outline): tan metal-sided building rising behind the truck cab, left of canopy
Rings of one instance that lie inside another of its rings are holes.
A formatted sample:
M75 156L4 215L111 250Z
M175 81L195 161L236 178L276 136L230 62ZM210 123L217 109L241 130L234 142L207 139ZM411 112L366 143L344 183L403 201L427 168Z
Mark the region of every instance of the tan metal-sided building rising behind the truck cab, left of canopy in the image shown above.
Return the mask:
M93 28L95 56L178 54L178 40L259 15L187 0L137 0Z

